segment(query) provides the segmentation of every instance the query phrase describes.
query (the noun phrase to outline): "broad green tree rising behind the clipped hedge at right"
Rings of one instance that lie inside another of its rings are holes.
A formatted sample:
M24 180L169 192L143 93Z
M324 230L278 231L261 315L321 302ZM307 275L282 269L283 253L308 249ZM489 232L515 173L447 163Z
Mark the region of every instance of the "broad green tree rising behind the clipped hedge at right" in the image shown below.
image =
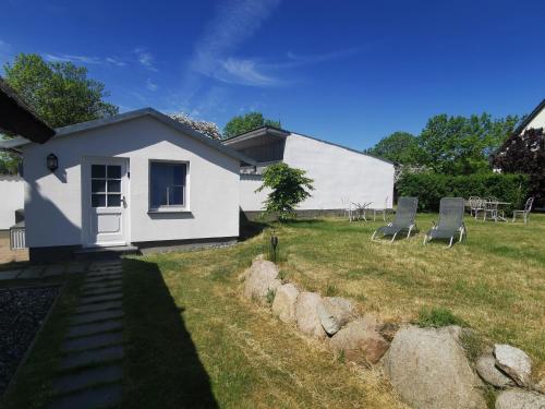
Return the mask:
M431 118L416 139L415 160L436 172L470 175L489 171L489 155L512 133L516 116L493 120L488 113Z

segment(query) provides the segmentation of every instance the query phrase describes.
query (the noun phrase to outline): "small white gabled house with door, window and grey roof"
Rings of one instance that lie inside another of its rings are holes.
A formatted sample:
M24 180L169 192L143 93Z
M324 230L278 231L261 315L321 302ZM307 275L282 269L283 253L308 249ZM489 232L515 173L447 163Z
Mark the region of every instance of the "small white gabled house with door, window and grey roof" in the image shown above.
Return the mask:
M240 168L254 161L154 109L61 128L44 144L20 137L9 148L23 154L31 260L239 236Z

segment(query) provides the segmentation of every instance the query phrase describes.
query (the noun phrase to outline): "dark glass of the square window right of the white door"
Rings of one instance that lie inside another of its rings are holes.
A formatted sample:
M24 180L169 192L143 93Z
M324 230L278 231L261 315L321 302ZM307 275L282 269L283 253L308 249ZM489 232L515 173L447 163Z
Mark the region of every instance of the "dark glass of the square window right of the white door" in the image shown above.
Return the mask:
M150 206L184 204L185 165L153 163L150 166Z

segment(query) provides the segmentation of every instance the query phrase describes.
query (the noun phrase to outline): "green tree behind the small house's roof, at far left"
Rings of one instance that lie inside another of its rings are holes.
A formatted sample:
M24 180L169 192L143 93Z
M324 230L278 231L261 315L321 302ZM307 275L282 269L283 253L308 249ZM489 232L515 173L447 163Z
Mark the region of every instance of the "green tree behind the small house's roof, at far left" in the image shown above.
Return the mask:
M105 85L87 79L87 69L71 62L46 62L38 55L20 53L4 65L8 84L51 128L118 113Z

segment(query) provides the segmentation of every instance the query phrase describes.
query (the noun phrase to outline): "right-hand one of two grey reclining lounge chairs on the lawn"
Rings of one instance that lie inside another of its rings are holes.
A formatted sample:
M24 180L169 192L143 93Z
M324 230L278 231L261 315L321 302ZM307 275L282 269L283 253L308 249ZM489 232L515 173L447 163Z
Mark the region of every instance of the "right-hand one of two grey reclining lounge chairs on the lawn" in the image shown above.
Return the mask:
M432 239L450 239L447 246L452 246L455 237L459 234L459 241L463 236L468 236L465 225L463 224L464 200L463 197L443 197L439 206L439 222L424 237L424 244Z

